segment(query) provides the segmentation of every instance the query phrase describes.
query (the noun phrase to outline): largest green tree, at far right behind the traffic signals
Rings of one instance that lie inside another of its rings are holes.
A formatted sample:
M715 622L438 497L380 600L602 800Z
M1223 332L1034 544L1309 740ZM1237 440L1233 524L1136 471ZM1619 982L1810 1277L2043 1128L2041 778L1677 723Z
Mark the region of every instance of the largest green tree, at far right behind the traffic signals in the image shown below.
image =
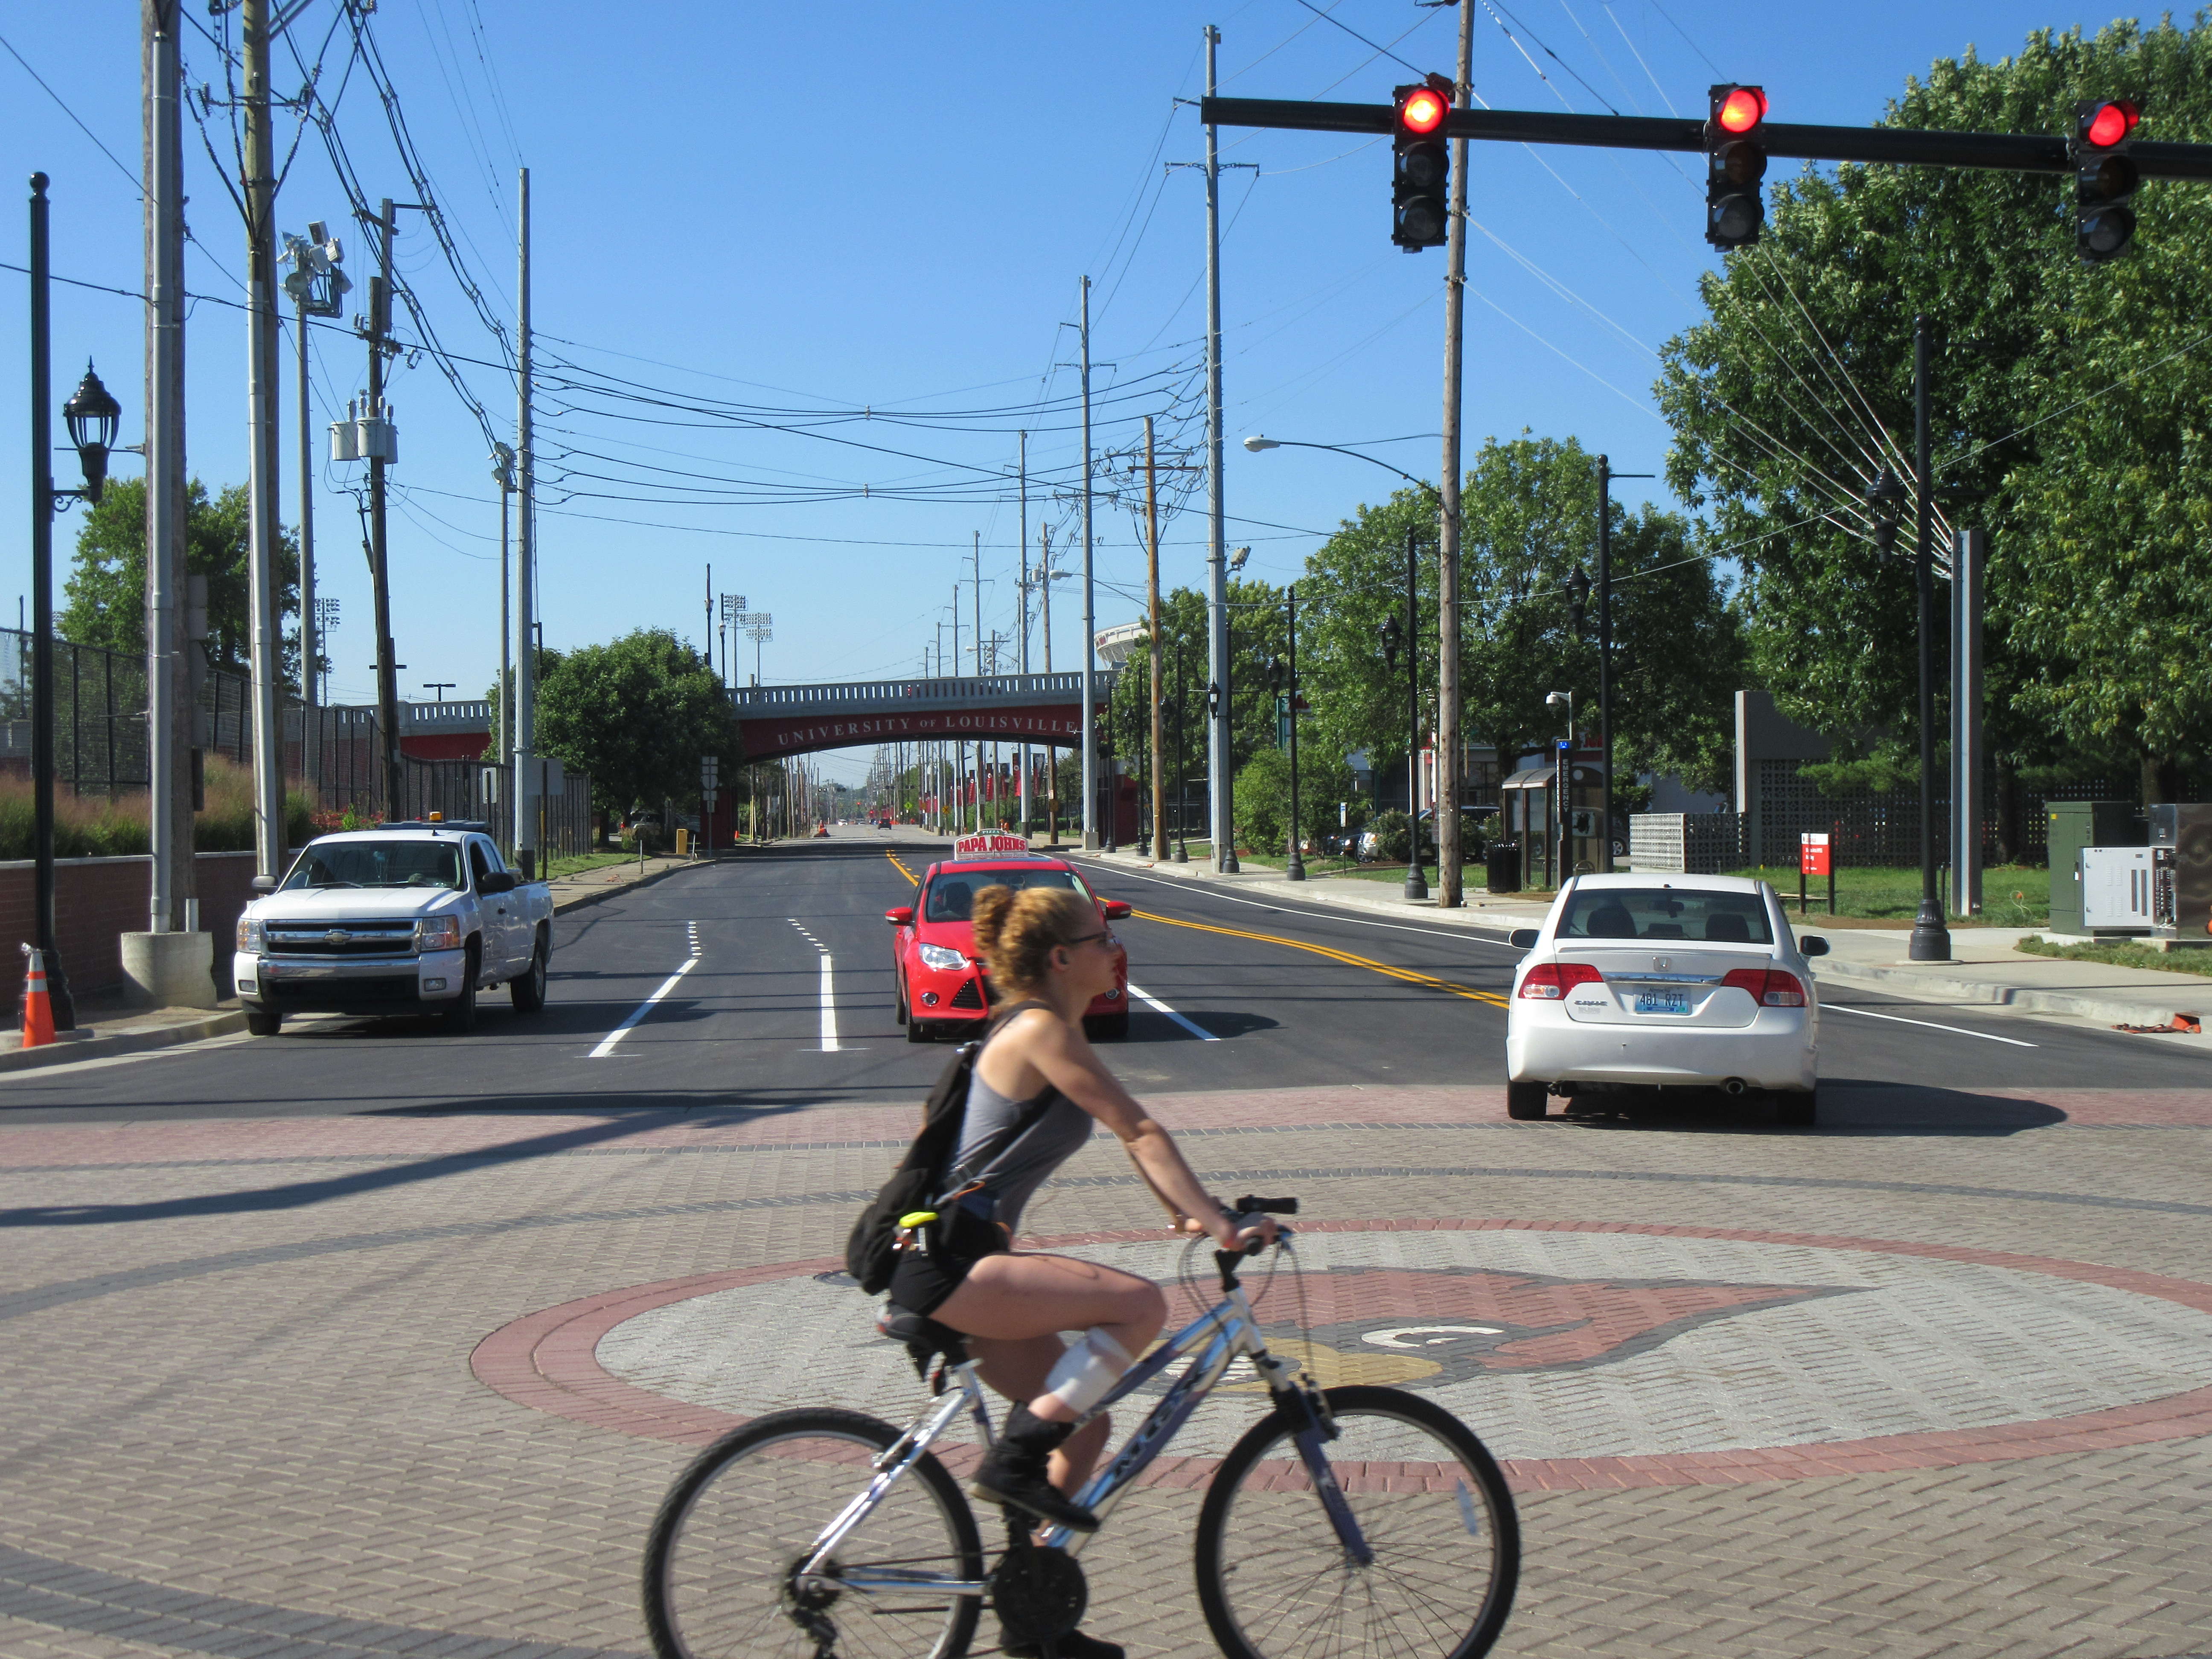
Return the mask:
M1887 122L2059 133L2075 100L2112 95L2141 104L2146 139L2212 137L2205 18L1940 60ZM2117 759L2157 792L2205 754L2212 367L2188 347L2212 310L2212 201L2148 181L2135 208L2132 252L2084 265L2064 177L1807 168L1770 192L1765 237L1705 276L1708 319L1668 343L1659 380L1668 480L1745 566L1754 675L1809 726L1878 728L1865 761L1893 772L1918 730L1913 584L1905 562L1878 566L1860 498L1882 460L1909 487L1911 332L1929 319L1938 509L1991 533L1986 717L2011 843L2015 772ZM1907 553L1911 526L1907 502Z

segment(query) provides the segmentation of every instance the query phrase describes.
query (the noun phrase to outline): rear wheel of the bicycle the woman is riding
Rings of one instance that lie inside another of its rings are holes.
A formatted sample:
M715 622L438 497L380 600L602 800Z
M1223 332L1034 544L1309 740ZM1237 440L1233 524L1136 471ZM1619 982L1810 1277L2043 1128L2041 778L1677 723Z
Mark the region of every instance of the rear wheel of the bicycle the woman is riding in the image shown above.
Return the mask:
M699 1453L668 1489L646 1542L646 1630L659 1659L960 1659L980 1599L918 1586L805 1588L796 1568L872 1480L898 1429L858 1411L774 1411ZM931 1453L830 1559L980 1579L982 1537Z

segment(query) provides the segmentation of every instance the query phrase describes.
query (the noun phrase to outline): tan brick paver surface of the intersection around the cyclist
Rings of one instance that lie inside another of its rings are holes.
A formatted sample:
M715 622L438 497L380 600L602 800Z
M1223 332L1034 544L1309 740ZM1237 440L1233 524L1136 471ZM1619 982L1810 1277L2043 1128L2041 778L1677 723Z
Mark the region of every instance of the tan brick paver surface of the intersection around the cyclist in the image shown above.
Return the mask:
M1575 1223L1451 1234L1493 1241L1484 1250L1509 1241L1509 1256L1455 1256L1460 1243L1429 1234L1444 1243L1405 1263L1433 1270L1440 1296L1473 1294L1473 1270L1511 1267L1511 1283L1480 1281L1491 1301L1429 1321L1498 1327L1495 1340L1376 1347L1413 1369L1442 1354L1431 1385L1460 1378L1451 1387L1478 1405L1517 1389L1495 1429L1462 1409L1528 1469L1575 1453L1710 1453L1739 1429L1739 1444L1778 1442L1776 1427L1816 1444L1829 1429L1989 1418L1986 1398L1966 1398L1960 1354L1936 1338L1944 1307L1975 1285L1989 1290L1973 1310L1984 1323L1955 1340L2022 1413L2203 1387L2212 1358L2190 1345L2190 1321L2212 1314L2143 1290L2143 1276L2212 1285L2212 1091L2011 1091L1986 1121L1951 1097L1942 1126L1891 1113L1900 1093L1869 1091L1854 1110L1836 1091L1823 1108L1840 1128L1818 1135L1517 1126L1498 1091L1478 1088L1157 1106L1217 1190L1274 1186L1301 1192L1316 1221L1389 1223L1318 1234L1314 1254L1327 1245L1340 1270L1374 1272L1374 1252L1422 1223ZM0 1130L0 1652L639 1652L639 1546L686 1444L518 1402L471 1356L586 1296L834 1259L911 1121L909 1106ZM1040 1194L1037 1232L1152 1221L1110 1144L1064 1177ZM1761 1243L1778 1237L1829 1243ZM1551 1329L1528 1298L1601 1283L1644 1296L1624 1303L1619 1332L1573 1352L1515 1347ZM1927 1323L1922 1336L1874 1318L1891 1294L1900 1321ZM818 1305L860 1303L821 1287ZM668 1321L659 1338L615 1323L584 1358L630 1367L646 1394L701 1398L679 1338L703 1307L664 1303L650 1314ZM1358 1325L1352 1290L1332 1310L1365 1352L1360 1332L1376 1332ZM2051 1340L2020 1329L2066 1310L2075 1323ZM2099 1321L2112 1352L2095 1347ZM1814 1352L1809 1332L1858 1332L1863 1365L1827 1427L1803 1422L1818 1378L1792 1374ZM865 1329L790 1334L803 1338L860 1345ZM1528 1354L1564 1360L1515 1371ZM1717 1356L1734 1380L1699 1385ZM1745 1383L1741 1367L1767 1369ZM1765 1396L1759 1376L1778 1378ZM2135 1444L2022 1449L1843 1475L1526 1486L1526 1571L1502 1652L2212 1648L2212 1438L2168 1425ZM1148 1655L1212 1652L1190 1590L1194 1513L1194 1495L1170 1489L1117 1511L1086 1555L1102 1635Z

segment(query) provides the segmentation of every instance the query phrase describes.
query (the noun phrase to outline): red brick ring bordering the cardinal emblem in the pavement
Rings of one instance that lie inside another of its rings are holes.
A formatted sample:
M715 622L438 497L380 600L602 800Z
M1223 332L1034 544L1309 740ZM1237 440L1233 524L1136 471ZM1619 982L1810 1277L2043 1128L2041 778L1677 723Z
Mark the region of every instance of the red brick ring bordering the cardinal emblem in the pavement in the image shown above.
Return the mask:
M1635 1232L1661 1239L1725 1239L1739 1243L1801 1245L1812 1250L1865 1250L1889 1256L1927 1256L1980 1267L2013 1267L2017 1272L2075 1279L2139 1296L2194 1307L2212 1314L2212 1285L2190 1279L2128 1267L2101 1267L2057 1256L2022 1256L2004 1250L1969 1250L1958 1245L1905 1243L1896 1239L1849 1239L1816 1232L1761 1232L1750 1228L1670 1228L1632 1221L1314 1221L1301 1232ZM1144 1232L1079 1232L1040 1239L1044 1248L1079 1248L1099 1243L1155 1241ZM772 1279L796 1279L843 1267L843 1261L776 1261L763 1267L737 1267L719 1274L664 1279L653 1285L582 1296L560 1307L546 1307L502 1325L469 1356L469 1369L484 1387L504 1394L515 1405L551 1411L597 1429L675 1440L701 1447L748 1418L712 1407L688 1405L639 1389L611 1376L595 1349L599 1338L626 1318L666 1307L668 1303L708 1296L719 1290L759 1285ZM1754 1480L1814 1480L1823 1475L1882 1475L1911 1469L1953 1469L1971 1462L2006 1462L2013 1458L2051 1458L2068 1451L2112 1451L2157 1440L2192 1440L2212 1433L2212 1387L2170 1394L2141 1405L2084 1411L2070 1418L2035 1422L2002 1422L1982 1429L1929 1429L1918 1433L1871 1436L1865 1440L1829 1440L1794 1447L1743 1447L1734 1451L1650 1453L1628 1458L1515 1458L1504 1464L1520 1491L1613 1491L1621 1486L1734 1486ZM947 1462L964 1469L975 1453L949 1447ZM1148 1471L1148 1484L1203 1484L1214 1458L1161 1458Z

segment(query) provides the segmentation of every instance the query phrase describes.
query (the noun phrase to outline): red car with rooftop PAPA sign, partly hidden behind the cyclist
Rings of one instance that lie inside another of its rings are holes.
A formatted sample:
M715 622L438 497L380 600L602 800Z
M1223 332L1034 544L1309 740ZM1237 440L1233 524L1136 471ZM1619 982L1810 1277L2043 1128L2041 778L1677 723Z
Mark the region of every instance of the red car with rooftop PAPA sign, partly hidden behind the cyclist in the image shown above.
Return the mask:
M907 1042L929 1042L938 1031L960 1031L984 1018L984 975L975 962L975 929L969 916L984 887L1071 887L1099 909L1099 920L1128 916L1128 902L1099 898L1064 858L998 856L949 858L929 865L911 905L887 909L891 969L898 975L894 1015ZM1084 1009L1084 1033L1093 1040L1128 1035L1128 951L1115 949L1115 987Z

